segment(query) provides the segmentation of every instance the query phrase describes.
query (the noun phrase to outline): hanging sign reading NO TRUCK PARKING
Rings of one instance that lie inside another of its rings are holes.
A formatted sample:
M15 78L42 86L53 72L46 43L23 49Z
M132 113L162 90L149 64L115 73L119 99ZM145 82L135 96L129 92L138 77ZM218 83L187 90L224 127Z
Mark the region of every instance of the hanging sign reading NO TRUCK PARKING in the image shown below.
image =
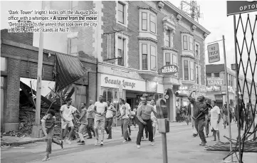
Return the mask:
M209 63L219 62L221 60L219 55L219 43L214 43L207 46Z

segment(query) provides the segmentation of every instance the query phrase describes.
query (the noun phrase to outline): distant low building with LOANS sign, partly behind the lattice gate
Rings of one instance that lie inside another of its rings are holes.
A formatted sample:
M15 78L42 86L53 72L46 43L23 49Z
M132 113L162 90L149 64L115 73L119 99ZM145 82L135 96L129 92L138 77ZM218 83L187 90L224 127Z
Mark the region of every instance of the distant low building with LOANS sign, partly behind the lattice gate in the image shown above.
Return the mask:
M236 106L236 71L231 68L227 68L228 73L228 88L229 88L229 104ZM222 83L214 83L216 78L220 78ZM246 104L251 99L253 105L256 104L256 92L257 87L254 85L251 87L252 79L244 78L243 75L239 74L239 98L243 95L243 102ZM211 80L209 80L211 79ZM208 81L209 80L209 81ZM246 84L245 83L246 80ZM226 102L226 83L225 83L225 70L224 64L211 64L206 65L206 95L211 98L211 100L216 100L217 105L221 107ZM257 83L255 83L257 86ZM249 93L248 93L249 91ZM249 96L251 95L251 97Z

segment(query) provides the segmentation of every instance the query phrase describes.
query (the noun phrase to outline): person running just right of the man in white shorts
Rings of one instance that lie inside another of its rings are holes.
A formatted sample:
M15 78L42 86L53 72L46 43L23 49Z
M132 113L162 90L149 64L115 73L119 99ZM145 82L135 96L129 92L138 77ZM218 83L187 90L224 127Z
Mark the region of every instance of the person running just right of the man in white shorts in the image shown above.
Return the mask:
M78 119L78 122L80 122L80 128L78 129L78 136L80 137L80 140L78 142L81 142L80 145L85 144L84 136L83 136L83 130L88 125L88 119L87 119L87 108L85 107L85 103L81 103L80 107L82 108L80 118Z

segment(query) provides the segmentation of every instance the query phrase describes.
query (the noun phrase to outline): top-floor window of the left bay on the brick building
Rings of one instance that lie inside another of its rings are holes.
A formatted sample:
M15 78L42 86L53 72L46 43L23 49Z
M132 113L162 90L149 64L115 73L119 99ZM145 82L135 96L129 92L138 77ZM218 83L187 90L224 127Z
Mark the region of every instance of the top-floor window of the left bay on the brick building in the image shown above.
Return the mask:
M149 32L156 35L157 12L148 8L139 7L139 9L140 9L140 32ZM151 36L145 36L145 37L151 37ZM157 38L154 38L154 39L157 39Z

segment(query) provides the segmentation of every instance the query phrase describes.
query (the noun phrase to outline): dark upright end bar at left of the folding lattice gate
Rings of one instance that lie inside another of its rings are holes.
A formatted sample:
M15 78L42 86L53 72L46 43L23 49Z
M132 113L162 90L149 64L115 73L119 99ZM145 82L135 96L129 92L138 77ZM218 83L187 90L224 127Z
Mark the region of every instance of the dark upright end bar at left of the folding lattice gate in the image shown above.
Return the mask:
M238 61L237 61L237 48L236 48L236 16L234 15L234 42L235 42L235 56L236 56L236 107L238 108L238 119L240 119L240 108L239 108L239 95L238 95ZM239 152L239 163L242 163L241 156L241 127L240 120L237 120L238 125L238 152Z

